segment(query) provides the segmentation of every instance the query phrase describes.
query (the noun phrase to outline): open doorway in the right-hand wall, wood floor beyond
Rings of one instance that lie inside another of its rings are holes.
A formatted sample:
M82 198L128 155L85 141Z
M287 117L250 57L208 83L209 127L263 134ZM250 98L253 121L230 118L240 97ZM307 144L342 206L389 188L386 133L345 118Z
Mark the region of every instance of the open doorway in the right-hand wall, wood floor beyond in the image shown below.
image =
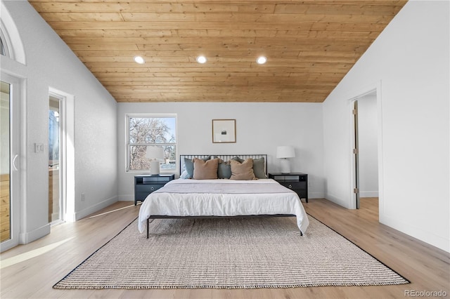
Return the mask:
M354 198L378 206L378 106L377 92L354 100Z

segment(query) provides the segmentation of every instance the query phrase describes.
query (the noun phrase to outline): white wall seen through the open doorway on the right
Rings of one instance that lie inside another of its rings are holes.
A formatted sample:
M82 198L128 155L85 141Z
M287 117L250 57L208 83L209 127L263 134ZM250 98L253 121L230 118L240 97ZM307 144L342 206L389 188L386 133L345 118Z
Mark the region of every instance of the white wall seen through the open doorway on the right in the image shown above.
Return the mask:
M375 93L358 98L359 194L378 197L378 131Z

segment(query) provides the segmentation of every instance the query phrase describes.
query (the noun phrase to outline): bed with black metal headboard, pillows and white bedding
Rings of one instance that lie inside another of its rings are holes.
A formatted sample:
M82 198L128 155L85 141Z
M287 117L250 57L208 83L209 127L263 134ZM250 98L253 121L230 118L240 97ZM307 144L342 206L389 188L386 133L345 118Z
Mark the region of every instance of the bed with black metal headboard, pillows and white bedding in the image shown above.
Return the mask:
M309 220L302 201L293 190L268 179L266 170L266 154L181 155L180 178L143 201L139 232L147 230L148 237L150 220L156 218L295 216L304 234Z

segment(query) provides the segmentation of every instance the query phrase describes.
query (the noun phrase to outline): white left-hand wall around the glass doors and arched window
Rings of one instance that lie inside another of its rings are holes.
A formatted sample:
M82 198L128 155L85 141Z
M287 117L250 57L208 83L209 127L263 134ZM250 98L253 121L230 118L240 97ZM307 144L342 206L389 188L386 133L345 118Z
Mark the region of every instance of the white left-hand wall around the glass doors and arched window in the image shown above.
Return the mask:
M1 56L1 70L24 82L20 239L27 242L50 230L48 147L34 152L35 142L48 143L49 88L75 98L75 219L117 201L117 103L27 1L2 2L2 18L13 18L26 56L26 65Z

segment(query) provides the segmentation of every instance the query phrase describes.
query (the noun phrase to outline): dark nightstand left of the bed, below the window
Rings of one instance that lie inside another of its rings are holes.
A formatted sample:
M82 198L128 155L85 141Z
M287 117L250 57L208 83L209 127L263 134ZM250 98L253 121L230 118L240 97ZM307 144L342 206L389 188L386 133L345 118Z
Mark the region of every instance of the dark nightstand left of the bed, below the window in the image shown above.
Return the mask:
M148 194L160 189L160 187L174 179L174 174L134 175L134 206L136 206L137 201L144 201Z

